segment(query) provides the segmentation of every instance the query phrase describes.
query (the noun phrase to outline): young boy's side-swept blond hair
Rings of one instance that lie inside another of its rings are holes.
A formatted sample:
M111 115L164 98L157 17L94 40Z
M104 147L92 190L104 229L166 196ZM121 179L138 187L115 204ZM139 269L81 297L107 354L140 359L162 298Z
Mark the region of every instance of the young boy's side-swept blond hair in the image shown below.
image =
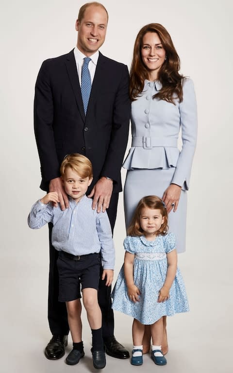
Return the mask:
M72 153L65 156L60 167L61 176L65 175L67 167L77 172L83 179L93 177L91 161L82 154Z

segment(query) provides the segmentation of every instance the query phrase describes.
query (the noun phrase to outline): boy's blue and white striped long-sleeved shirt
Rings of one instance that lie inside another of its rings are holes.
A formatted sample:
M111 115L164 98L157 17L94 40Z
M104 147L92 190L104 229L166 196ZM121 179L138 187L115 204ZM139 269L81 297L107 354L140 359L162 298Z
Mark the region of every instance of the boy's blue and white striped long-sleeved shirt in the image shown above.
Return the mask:
M92 202L86 195L78 203L70 198L69 208L62 211L60 204L53 207L39 200L33 204L28 225L38 229L52 222L52 245L56 250L73 255L100 253L101 250L103 269L114 269L115 249L108 215L106 211L93 210Z

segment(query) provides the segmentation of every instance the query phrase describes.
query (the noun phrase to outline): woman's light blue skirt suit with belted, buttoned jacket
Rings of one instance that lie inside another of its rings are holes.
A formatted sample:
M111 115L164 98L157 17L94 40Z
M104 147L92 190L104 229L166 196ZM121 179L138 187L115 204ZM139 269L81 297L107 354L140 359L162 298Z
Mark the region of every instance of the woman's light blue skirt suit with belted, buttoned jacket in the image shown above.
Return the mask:
M140 97L132 102L132 148L127 169L124 208L128 227L139 200L147 195L163 197L171 184L182 186L178 209L168 215L169 232L177 237L177 252L185 251L187 190L197 140L197 105L191 79L183 83L183 101L175 104L153 99L161 84L145 81ZM182 150L177 147L182 131Z

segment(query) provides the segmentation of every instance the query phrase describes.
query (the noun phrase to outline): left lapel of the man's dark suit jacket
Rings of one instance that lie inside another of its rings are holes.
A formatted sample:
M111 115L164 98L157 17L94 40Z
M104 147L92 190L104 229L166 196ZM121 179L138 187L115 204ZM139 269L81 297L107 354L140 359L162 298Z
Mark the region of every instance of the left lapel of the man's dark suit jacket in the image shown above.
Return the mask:
M83 99L82 99L81 88L79 84L79 76L78 76L78 71L77 71L77 66L76 66L73 50L67 54L66 67L67 67L67 73L69 76L70 84L74 92L74 96L75 96L75 99L78 105L80 115L83 119L83 122L85 122Z

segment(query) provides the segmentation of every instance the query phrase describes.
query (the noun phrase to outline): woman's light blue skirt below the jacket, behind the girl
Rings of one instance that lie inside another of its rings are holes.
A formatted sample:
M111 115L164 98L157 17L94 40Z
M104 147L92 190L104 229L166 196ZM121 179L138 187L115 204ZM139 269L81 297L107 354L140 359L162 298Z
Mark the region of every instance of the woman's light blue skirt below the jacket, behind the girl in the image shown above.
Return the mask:
M172 181L175 170L175 167L170 167L169 169L134 169L127 171L124 186L126 227L129 226L137 203L142 197L149 195L163 197L166 188ZM176 212L172 210L168 215L169 232L174 233L177 238L176 250L178 253L185 251L186 213L187 192L182 189L178 209Z

